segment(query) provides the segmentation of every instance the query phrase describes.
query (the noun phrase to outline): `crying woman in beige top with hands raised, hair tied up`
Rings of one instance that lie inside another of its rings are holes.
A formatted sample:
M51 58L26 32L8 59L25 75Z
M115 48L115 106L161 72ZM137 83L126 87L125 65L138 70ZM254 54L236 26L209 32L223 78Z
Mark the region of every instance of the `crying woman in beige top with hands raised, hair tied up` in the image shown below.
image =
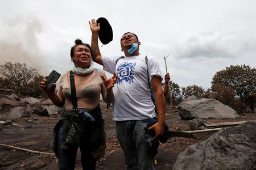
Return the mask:
M75 87L77 107L88 111L96 120L87 126L80 146L81 163L83 169L95 169L96 161L104 156L105 138L104 120L101 117L100 94L107 103L112 103L114 95L112 88L117 80L117 75L106 79L104 71L94 69L92 66L92 49L90 45L76 40L71 48L71 59L75 63ZM47 77L46 77L47 78ZM46 79L41 82L44 92L50 97L53 104L61 109L59 122L53 130L52 149L59 159L59 169L75 169L77 146L65 146L64 138L67 136L69 121L72 116L72 97L69 80L69 71L61 75L60 87L55 93L56 84L51 89L46 88Z

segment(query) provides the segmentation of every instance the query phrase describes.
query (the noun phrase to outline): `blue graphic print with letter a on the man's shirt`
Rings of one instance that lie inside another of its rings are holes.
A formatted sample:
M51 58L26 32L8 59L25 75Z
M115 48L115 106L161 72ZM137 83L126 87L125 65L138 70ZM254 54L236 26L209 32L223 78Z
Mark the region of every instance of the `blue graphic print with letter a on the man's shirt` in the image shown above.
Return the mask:
M117 84L122 83L123 80L129 83L133 83L134 80L134 69L136 62L124 62L117 68Z

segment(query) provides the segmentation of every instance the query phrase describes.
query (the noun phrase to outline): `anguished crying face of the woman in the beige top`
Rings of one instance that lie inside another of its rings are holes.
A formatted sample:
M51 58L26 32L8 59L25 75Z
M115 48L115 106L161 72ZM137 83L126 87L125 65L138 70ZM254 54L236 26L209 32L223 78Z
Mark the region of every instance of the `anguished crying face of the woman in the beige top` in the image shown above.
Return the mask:
M92 61L90 49L85 45L77 45L72 61L75 62L76 67L89 68Z

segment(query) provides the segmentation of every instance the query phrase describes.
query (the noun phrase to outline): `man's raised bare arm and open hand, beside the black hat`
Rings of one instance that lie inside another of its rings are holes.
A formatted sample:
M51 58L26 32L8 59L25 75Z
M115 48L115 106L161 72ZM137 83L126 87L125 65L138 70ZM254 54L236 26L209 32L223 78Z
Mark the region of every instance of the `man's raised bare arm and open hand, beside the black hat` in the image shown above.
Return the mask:
M103 66L101 60L101 52L100 48L98 48L98 32L100 31L100 23L97 25L97 20L92 19L92 23L89 21L90 30L92 31L92 57L93 61L97 62L98 64Z

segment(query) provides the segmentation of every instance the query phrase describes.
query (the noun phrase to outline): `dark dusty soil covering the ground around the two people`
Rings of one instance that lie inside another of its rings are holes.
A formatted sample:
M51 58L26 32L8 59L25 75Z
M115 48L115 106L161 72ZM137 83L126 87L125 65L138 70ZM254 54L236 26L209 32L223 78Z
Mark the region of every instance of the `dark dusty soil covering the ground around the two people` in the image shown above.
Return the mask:
M103 117L105 119L105 130L107 133L107 145L105 157L97 163L96 169L125 169L123 152L115 137L115 122L112 121L112 107L106 109L106 104L101 103ZM174 109L175 126L177 131L189 130L189 121L181 120ZM34 122L27 120L34 118ZM13 123L23 125L19 128L14 125L0 125L0 143L16 147L26 148L41 152L52 152L50 148L52 130L59 117L40 117L32 114L31 117L20 118ZM240 118L225 120L207 120L207 122L233 122L256 120L256 114L246 113ZM166 110L166 122L170 130L173 129L170 109ZM156 169L172 169L177 155L190 145L205 141L214 132L194 134L196 139L170 138L166 144L159 146L156 155ZM31 154L30 152L15 150L13 148L0 146L0 169L57 169L57 159L52 155ZM77 152L76 169L82 169L80 163L80 152Z

